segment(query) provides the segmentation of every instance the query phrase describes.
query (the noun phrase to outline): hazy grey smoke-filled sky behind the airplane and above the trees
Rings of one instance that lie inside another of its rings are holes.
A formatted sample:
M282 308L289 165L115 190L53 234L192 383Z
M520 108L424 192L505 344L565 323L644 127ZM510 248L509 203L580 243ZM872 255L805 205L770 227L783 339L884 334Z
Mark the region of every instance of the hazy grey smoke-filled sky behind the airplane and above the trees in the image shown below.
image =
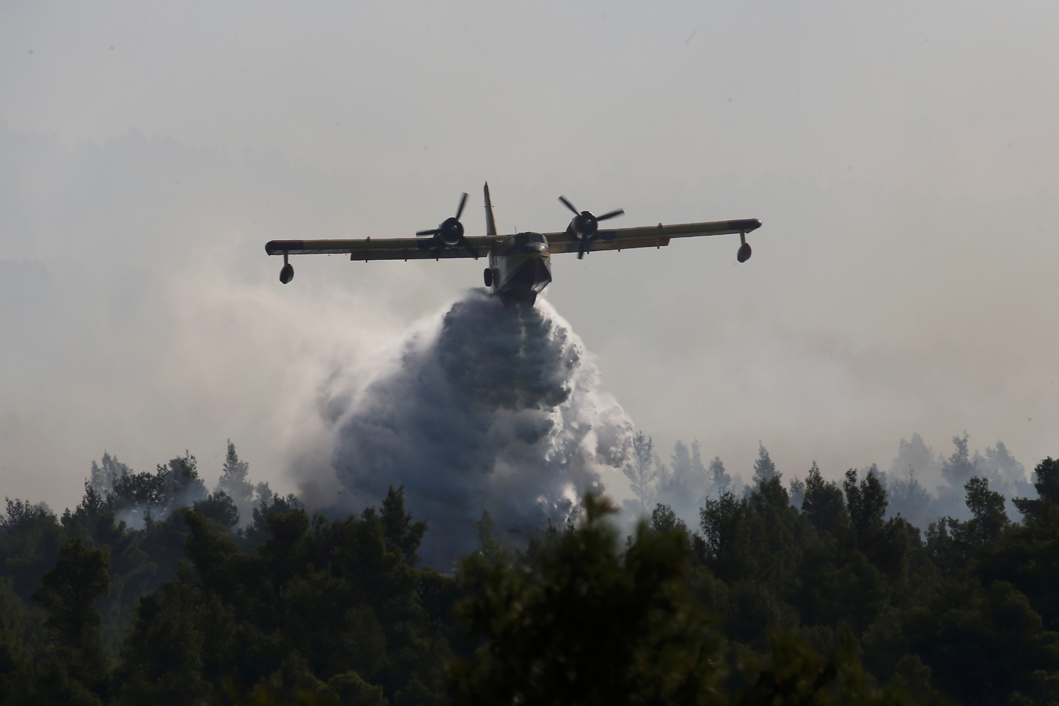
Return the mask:
M1059 453L1054 2L0 5L0 479L73 505L104 449L325 454L318 401L481 263L294 258L481 203L562 230L760 218L557 256L548 297L668 455L889 466L966 430ZM468 209L468 232L484 232ZM612 482L624 483L615 472Z

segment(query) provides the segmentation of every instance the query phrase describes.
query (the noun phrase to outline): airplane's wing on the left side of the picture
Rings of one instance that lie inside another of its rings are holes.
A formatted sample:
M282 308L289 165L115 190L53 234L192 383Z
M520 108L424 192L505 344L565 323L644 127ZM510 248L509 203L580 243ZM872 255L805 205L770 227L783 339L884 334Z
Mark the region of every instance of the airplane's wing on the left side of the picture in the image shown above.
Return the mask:
M362 240L269 240L269 255L349 255L352 260L450 259L488 257L497 238L472 235L466 245L438 247L434 238L364 238Z

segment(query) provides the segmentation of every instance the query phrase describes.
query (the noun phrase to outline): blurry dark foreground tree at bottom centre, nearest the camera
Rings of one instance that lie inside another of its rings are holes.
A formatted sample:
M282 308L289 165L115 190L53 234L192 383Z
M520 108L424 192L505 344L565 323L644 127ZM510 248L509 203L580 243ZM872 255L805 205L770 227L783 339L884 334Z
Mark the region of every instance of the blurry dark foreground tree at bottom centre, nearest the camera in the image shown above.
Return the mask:
M525 569L468 566L486 638L449 677L455 704L719 703L721 638L682 576L686 535L645 524L623 557L606 501Z

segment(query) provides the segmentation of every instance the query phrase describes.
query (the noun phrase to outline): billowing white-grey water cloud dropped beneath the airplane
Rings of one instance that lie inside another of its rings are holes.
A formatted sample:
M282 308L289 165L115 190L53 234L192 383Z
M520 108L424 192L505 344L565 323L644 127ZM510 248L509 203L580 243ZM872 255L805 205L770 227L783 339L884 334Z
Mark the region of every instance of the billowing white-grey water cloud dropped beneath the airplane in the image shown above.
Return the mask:
M429 521L420 556L439 568L474 548L483 510L516 544L563 523L585 491L603 490L600 470L621 466L631 437L598 380L546 301L503 308L472 290L362 388L330 397L342 505L403 485Z

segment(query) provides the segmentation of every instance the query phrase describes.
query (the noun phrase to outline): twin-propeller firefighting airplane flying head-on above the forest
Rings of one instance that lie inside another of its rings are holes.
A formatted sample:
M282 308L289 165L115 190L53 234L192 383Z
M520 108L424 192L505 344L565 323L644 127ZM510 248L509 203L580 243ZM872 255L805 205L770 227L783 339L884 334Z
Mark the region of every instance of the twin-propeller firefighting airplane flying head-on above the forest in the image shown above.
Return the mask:
M621 216L622 209L594 216L588 211L578 212L570 201L559 197L574 212L574 218L562 233L516 233L498 235L489 200L489 184L485 184L485 235L464 235L460 216L467 203L464 194L456 215L446 218L435 229L419 231L414 238L364 238L363 240L270 240L265 246L269 255L283 255L280 282L289 283L294 268L290 255L349 254L351 260L373 259L449 259L452 257L488 256L485 268L485 286L500 296L504 306L525 303L530 306L552 282L550 256L556 253L577 253L577 259L597 250L629 250L632 248L661 248L670 238L690 238L697 235L739 234L741 245L736 259L750 259L747 233L761 227L756 218L718 220L708 223L681 223L679 225L645 225L600 230L599 221Z

